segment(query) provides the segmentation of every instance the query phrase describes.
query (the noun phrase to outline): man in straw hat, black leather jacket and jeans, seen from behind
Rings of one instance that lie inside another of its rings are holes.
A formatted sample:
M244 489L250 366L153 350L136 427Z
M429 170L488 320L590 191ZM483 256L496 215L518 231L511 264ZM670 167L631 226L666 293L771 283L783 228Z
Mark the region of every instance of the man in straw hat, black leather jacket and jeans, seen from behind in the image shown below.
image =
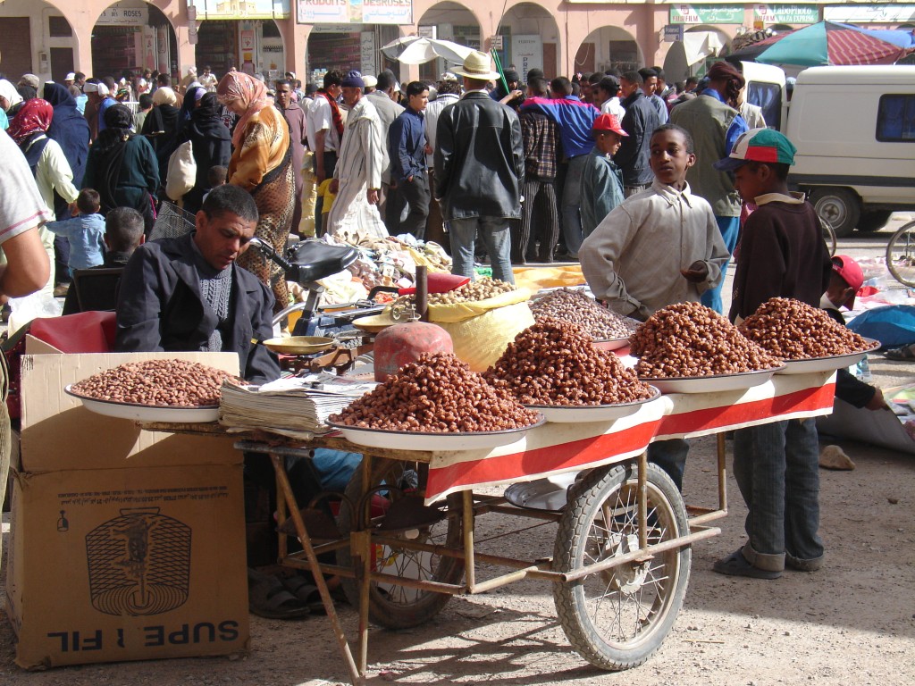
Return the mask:
M492 277L513 284L509 223L521 217L521 121L486 91L487 81L500 78L488 55L471 52L454 73L466 92L439 115L435 149L435 195L451 237L451 272L473 276L479 230Z

